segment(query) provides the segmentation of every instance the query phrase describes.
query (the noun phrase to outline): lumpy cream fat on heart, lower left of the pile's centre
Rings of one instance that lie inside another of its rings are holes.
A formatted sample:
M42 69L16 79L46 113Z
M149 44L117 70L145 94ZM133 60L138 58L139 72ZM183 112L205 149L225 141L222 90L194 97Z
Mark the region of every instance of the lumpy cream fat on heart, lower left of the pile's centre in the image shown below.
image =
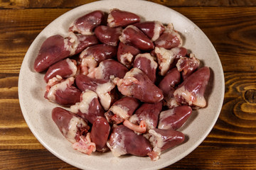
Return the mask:
M94 91L86 90L82 92L82 101L75 103L75 105L70 106L70 111L73 113L88 113L90 103L94 98L97 98L97 94Z

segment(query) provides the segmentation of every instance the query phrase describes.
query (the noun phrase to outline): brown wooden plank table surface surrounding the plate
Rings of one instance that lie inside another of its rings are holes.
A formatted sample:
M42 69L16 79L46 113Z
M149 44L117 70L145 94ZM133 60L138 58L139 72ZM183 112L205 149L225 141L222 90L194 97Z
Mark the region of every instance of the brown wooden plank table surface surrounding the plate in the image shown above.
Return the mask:
M92 1L0 2L0 169L76 169L48 152L29 130L18 101L18 73L43 28ZM213 130L191 154L165 169L256 169L256 1L151 1L196 23L225 72L223 109Z

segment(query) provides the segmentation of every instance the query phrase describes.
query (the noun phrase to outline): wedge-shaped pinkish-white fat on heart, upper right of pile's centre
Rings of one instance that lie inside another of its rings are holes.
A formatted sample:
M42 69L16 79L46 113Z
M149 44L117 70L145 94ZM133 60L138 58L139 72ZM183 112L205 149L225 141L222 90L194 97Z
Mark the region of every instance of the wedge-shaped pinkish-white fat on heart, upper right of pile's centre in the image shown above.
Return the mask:
M174 62L176 55L172 50L166 50L164 47L156 47L155 52L159 63L160 74L164 76L169 70L171 63Z

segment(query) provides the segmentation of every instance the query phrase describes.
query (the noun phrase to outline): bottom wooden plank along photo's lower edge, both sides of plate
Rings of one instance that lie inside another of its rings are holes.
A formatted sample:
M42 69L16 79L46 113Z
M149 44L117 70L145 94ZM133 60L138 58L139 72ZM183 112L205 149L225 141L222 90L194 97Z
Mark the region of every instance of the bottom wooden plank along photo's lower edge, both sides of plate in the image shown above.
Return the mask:
M240 158L243 157L242 162ZM161 158L160 158L161 159ZM0 150L0 169L76 169L46 149ZM235 164L234 164L235 162ZM197 148L167 169L256 169L255 148Z

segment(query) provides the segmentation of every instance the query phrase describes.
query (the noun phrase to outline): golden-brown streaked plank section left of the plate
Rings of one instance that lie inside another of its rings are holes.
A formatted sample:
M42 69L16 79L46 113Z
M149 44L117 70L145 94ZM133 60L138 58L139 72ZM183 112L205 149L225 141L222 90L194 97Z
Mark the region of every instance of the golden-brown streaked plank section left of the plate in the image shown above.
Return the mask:
M0 149L43 149L18 102L18 74L0 74Z

